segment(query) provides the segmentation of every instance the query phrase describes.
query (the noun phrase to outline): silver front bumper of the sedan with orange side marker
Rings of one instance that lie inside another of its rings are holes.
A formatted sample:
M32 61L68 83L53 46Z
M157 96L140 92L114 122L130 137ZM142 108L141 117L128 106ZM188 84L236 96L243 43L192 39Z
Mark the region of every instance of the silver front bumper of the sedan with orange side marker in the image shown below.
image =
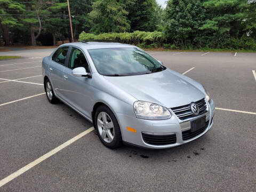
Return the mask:
M116 113L120 129L122 132L122 138L124 142L131 143L133 145L141 146L144 148L153 148L153 149L164 149L164 148L170 148L182 145L184 143L188 143L190 141L193 141L205 133L207 133L212 125L213 121L212 118L215 114L215 106L213 100L211 102L207 102L207 105L209 107L209 110L201 115L206 115L206 122L208 121L207 126L205 129L198 132L198 134L193 137L193 135L189 135L189 137L185 137L185 135L189 134L190 130L190 119L186 119L185 121L181 121L177 116L175 116L174 113L172 113L172 117L170 119L164 119L164 120L146 120L146 119L139 119L131 116L127 116L124 114ZM200 117L200 116L197 116ZM196 118L197 118L196 117ZM136 132L131 132L127 130L127 127L132 127L136 130ZM182 132L183 132L183 139L182 139ZM185 134L186 133L186 134ZM157 137L162 137L162 135L165 135L163 137L169 137L170 135L175 134L176 140L172 139L174 143L167 145L152 145L148 142L145 142L145 137L143 139L142 134L145 135L159 135ZM160 136L161 135L161 136Z

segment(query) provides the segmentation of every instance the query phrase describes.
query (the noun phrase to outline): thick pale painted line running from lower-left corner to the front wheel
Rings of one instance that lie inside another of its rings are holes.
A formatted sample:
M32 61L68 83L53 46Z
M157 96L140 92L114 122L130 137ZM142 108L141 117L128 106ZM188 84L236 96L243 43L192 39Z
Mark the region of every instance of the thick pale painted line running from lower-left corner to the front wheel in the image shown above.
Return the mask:
M7 176L6 178L2 179L0 181L0 187L2 187L3 185L5 185L7 182L10 182L11 180L17 178L19 175L21 175L22 173L25 173L26 171L30 170L32 167L36 166L37 164L43 162L45 159L51 157L52 155L58 153L60 150L66 148L67 146L69 146L71 143L77 141L78 139L84 137L84 135L92 132L94 130L94 127L90 127L89 129L87 129L86 131L76 135L74 138L66 141L65 143L63 143L62 145L56 147L55 149L49 151L48 153L46 153L45 155L37 158L35 161L27 164L26 166L23 166L21 169L19 169L18 171L10 174L9 176Z

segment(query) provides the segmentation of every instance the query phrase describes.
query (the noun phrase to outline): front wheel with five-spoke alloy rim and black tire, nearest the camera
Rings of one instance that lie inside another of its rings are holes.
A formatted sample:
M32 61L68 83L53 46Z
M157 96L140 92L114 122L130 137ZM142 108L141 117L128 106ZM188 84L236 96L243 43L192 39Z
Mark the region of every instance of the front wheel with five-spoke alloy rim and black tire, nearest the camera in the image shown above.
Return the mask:
M122 145L122 134L113 112L107 106L100 106L94 116L95 130L108 148L114 149Z

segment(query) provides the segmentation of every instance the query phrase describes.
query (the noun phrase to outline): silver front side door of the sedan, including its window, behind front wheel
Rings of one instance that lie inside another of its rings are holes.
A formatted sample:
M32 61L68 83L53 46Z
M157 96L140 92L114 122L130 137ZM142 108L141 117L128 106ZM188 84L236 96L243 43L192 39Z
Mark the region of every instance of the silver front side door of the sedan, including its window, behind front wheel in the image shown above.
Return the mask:
M91 73L90 66L82 50L71 47L68 60L68 68L63 71L65 78L64 97L67 98L71 106L91 117L91 103L93 102L92 78L77 77L72 74L72 70L77 67L84 67L87 73Z

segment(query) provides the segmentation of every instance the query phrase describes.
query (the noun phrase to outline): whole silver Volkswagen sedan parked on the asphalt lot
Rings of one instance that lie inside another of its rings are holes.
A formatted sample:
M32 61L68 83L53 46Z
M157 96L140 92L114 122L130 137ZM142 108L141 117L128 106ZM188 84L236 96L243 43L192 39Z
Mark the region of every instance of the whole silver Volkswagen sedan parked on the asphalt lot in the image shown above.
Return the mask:
M92 122L109 148L174 147L213 124L214 102L201 84L133 45L63 44L43 59L42 74L47 99Z

